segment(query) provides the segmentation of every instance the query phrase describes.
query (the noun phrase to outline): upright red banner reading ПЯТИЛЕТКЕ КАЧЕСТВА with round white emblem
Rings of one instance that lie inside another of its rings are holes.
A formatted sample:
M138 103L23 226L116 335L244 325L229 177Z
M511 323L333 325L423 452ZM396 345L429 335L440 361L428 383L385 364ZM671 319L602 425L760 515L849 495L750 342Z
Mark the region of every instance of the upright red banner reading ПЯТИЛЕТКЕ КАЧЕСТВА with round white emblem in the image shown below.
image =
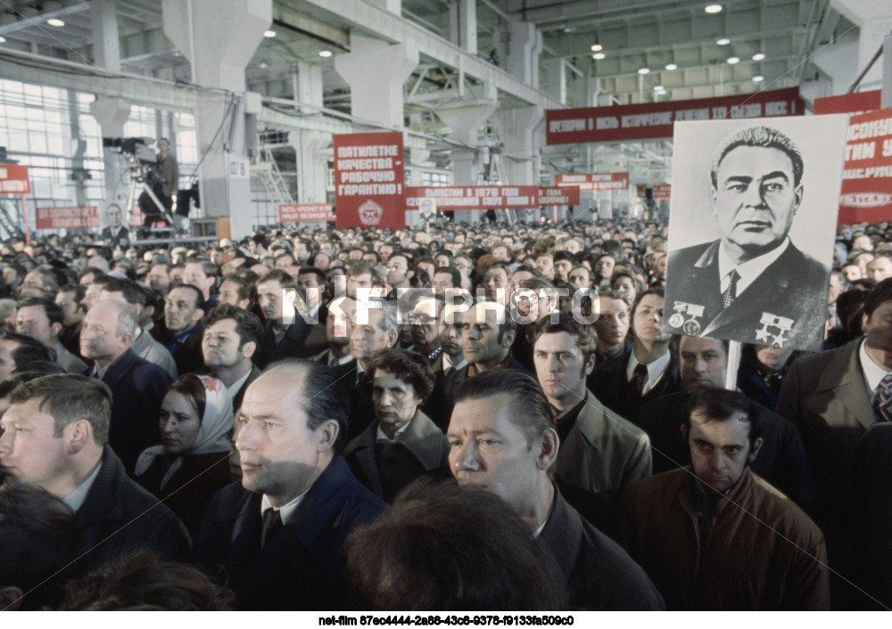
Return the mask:
M338 229L406 226L402 134L335 135Z

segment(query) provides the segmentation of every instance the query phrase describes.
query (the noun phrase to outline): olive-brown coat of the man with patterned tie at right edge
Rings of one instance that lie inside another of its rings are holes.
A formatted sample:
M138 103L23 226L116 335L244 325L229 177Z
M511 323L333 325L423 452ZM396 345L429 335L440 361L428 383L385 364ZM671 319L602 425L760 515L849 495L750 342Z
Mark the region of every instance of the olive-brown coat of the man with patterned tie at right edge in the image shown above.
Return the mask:
M858 358L861 343L799 358L780 388L777 413L799 429L819 489L877 421Z

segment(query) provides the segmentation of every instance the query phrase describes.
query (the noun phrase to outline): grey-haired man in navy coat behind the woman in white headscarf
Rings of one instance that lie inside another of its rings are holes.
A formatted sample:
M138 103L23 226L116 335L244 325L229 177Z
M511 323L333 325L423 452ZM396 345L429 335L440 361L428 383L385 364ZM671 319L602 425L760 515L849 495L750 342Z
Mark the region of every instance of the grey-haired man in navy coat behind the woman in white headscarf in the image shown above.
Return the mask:
M158 413L173 379L157 364L133 353L136 310L126 302L96 302L80 331L80 353L93 362L91 376L111 388L109 445L129 474L139 454L159 442Z

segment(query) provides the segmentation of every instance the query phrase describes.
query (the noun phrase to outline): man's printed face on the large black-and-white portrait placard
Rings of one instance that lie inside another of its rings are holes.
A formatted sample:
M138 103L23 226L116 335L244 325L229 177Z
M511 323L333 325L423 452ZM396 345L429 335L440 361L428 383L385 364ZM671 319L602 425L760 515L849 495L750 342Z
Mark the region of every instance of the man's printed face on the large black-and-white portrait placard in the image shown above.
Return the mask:
M802 201L793 162L779 149L739 146L725 155L713 188L714 214L726 244L773 249L787 237Z

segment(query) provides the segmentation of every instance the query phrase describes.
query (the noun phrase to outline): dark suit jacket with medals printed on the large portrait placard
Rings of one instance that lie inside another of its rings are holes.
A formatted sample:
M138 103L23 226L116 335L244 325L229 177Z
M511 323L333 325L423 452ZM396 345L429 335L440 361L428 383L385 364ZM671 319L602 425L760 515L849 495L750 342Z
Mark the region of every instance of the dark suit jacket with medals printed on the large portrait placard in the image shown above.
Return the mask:
M720 244L707 242L669 254L665 300L668 329L675 334L819 351L827 319L829 270L790 243L731 306L723 308ZM696 326L686 327L693 314L681 311L675 316L675 306L680 304L703 306ZM782 335L781 327L772 325L778 318L793 322Z

